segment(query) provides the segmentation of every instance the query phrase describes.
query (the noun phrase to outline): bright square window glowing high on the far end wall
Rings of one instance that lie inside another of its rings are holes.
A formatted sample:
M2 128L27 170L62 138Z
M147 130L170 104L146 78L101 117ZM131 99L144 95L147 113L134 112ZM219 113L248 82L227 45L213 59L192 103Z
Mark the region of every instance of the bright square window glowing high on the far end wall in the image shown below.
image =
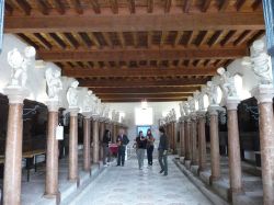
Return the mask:
M147 107L146 110L141 107L135 109L135 124L136 125L152 125L153 115L152 107Z

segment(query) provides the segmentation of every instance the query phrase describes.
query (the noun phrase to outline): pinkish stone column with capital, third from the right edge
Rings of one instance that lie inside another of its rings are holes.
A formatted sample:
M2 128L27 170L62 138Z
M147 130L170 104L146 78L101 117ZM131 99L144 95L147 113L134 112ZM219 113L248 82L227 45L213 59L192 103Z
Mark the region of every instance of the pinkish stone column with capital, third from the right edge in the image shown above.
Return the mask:
M218 127L218 107L209 107L210 115L210 159L212 175L210 182L220 178L220 155L219 155L219 127Z

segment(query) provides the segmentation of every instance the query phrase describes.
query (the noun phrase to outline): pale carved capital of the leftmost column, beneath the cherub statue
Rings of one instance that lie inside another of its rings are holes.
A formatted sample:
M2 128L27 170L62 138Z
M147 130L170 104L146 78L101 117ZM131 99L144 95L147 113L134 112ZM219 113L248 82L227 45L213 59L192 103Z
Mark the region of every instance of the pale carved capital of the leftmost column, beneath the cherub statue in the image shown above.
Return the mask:
M3 93L8 95L9 104L23 104L30 91L24 88L7 87L3 89Z

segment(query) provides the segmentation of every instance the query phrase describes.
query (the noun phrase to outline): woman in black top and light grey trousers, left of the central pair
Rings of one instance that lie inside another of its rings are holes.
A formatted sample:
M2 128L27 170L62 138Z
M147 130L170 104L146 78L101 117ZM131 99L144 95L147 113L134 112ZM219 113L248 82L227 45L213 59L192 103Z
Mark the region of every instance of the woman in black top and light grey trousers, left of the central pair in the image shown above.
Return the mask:
M136 153L137 153L139 170L142 170L144 167L146 146L147 146L147 139L144 137L142 132L140 130L139 135L136 137Z

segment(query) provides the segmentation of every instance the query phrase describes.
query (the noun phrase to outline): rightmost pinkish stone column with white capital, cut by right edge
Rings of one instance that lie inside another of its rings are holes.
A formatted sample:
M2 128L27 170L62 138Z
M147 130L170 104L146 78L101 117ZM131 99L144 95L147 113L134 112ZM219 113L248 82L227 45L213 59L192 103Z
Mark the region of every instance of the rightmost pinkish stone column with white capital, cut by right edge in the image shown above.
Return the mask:
M261 86L252 90L259 104L260 146L263 179L263 203L274 204L274 128L273 86Z

